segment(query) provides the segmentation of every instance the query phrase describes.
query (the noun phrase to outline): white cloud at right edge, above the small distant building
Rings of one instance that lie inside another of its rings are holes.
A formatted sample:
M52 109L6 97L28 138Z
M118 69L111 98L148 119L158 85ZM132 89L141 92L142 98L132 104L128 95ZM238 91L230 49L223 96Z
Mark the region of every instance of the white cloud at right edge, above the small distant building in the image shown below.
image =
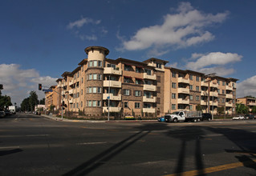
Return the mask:
M247 78L237 84L237 98L242 98L248 95L256 97L256 75Z

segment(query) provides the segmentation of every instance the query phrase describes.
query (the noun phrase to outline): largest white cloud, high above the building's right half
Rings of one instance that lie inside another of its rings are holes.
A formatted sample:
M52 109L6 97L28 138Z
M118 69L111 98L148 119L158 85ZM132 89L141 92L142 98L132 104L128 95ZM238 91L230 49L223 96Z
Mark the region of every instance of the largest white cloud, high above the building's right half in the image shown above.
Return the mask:
M223 22L228 12L204 14L195 10L189 2L182 2L177 14L166 14L162 25L144 27L130 40L123 40L124 50L144 50L156 46L193 46L213 40L214 35L205 30L206 26Z

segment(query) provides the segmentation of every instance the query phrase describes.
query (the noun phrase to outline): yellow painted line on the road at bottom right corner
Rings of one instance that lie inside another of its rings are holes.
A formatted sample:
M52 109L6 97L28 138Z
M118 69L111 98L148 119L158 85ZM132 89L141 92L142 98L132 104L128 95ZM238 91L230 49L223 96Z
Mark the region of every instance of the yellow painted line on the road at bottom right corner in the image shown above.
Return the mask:
M242 167L242 166L256 165L255 162L256 162L256 159L250 160L250 161L245 161L245 162L234 162L234 163L225 164L225 165L221 165L221 166L208 167L203 170L190 170L190 171L177 173L177 174L166 174L165 176L177 176L177 175L195 176L198 174L209 174L209 173L218 172L221 170L230 170L230 169L234 169L234 168Z

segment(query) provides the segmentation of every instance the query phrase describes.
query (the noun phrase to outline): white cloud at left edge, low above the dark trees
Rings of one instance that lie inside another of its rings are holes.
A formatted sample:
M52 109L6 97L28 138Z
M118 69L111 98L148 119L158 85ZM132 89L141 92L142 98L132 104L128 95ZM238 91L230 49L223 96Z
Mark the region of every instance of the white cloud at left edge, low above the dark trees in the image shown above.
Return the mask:
M39 99L44 98L43 91L39 91L39 83L53 86L57 78L40 77L34 69L22 70L18 64L0 64L0 80L3 84L2 94L10 96L11 102L19 106L24 98L29 97L30 91L35 91Z

